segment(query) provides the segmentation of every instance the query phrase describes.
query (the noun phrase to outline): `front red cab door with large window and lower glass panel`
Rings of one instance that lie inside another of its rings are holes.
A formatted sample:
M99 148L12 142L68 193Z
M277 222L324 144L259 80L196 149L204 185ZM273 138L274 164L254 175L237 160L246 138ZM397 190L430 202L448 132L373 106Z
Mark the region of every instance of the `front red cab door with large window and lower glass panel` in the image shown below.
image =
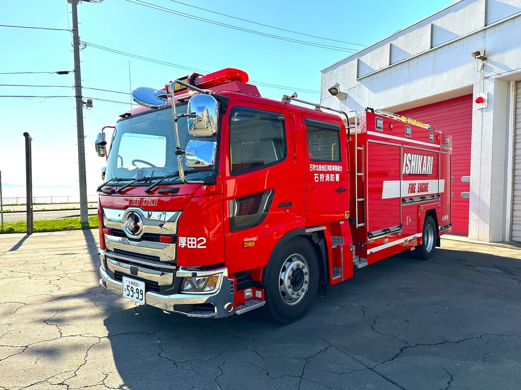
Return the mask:
M289 122L287 113L276 107L237 103L229 108L225 257L232 272L265 266L279 238L295 229Z

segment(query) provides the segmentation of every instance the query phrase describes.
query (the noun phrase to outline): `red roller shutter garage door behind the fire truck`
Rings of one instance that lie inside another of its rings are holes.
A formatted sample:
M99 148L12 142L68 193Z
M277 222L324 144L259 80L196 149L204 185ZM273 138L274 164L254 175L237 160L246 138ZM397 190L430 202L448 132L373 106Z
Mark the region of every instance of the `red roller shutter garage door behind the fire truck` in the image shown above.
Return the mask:
M472 103L471 94L398 112L452 135L452 233L462 235L468 235Z

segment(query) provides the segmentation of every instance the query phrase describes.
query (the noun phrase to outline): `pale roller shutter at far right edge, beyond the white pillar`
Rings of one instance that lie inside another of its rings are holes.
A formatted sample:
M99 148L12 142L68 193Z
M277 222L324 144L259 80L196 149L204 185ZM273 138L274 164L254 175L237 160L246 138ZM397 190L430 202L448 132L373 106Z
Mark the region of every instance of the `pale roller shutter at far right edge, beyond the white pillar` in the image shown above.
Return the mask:
M512 241L521 242L521 81L516 83Z

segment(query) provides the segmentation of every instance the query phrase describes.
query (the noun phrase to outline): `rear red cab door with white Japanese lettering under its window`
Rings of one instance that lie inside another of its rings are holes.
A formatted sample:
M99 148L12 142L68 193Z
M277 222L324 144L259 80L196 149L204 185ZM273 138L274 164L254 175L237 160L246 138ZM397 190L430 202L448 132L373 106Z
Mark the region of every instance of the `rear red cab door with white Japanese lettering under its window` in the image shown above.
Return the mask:
M349 210L346 134L339 122L303 116L306 136L306 226L343 221Z

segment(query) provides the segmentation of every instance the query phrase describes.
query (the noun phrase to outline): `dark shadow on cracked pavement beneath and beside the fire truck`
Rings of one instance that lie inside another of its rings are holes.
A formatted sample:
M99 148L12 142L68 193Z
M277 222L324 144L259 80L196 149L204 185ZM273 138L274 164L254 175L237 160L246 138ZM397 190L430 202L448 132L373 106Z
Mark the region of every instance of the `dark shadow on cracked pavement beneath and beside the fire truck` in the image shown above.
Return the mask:
M104 383L113 387L515 388L521 380L521 261L509 257L393 256L330 286L289 325L259 310L202 320L114 294L103 301L117 368Z

